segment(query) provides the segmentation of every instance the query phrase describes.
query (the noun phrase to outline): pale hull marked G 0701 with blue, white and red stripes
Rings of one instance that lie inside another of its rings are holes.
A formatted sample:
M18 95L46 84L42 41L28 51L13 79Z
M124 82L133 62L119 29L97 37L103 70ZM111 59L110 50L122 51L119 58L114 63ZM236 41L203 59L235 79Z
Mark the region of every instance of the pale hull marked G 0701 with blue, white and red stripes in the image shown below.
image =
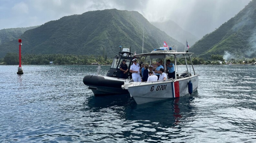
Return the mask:
M193 92L198 87L198 75L177 80L133 82L125 83L123 89L127 89L137 104L143 104L169 98L177 98L189 95L188 82L191 80Z

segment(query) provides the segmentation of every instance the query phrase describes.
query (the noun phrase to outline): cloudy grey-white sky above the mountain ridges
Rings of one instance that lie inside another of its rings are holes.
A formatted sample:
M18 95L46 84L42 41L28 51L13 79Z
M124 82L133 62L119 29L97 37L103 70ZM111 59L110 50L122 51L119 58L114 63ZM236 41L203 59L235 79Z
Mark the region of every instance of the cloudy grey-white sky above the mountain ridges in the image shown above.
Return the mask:
M201 38L251 0L0 0L0 30L29 27L87 11L138 11L149 22L173 20Z

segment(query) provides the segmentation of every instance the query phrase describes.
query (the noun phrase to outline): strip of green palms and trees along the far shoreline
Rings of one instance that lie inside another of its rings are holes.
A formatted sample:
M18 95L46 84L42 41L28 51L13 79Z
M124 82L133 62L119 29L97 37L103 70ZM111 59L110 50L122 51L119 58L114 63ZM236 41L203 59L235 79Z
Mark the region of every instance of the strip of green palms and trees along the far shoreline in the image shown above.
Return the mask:
M204 58L192 57L193 65L221 65L221 64L256 64L256 58L242 58L225 60L219 54L212 54L212 60L204 60ZM73 55L73 54L24 54L21 56L23 64L29 65L110 65L112 58L106 55ZM187 60L190 64L190 60ZM4 58L0 59L2 65L18 65L19 56L17 53L7 53ZM177 58L177 65L185 65L185 59Z

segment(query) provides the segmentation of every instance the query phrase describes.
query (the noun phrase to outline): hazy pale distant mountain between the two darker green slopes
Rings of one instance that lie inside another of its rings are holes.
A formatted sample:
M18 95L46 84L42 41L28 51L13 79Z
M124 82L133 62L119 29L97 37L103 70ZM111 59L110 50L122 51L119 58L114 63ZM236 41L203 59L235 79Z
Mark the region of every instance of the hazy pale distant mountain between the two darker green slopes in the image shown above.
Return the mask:
M188 41L189 46L195 44L199 38L188 31L183 30L177 23L172 20L166 22L151 22L155 27L165 31L169 36L175 38L181 43L186 44ZM183 47L184 48L184 47Z

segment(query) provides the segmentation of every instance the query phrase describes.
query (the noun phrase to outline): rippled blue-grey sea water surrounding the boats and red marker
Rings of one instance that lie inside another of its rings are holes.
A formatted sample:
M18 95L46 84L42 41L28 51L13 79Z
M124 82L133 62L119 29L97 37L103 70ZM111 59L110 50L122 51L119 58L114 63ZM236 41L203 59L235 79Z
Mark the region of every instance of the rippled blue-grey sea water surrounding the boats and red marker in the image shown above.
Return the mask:
M256 142L255 65L195 66L197 92L141 105L95 97L97 66L17 68L0 66L0 142Z

